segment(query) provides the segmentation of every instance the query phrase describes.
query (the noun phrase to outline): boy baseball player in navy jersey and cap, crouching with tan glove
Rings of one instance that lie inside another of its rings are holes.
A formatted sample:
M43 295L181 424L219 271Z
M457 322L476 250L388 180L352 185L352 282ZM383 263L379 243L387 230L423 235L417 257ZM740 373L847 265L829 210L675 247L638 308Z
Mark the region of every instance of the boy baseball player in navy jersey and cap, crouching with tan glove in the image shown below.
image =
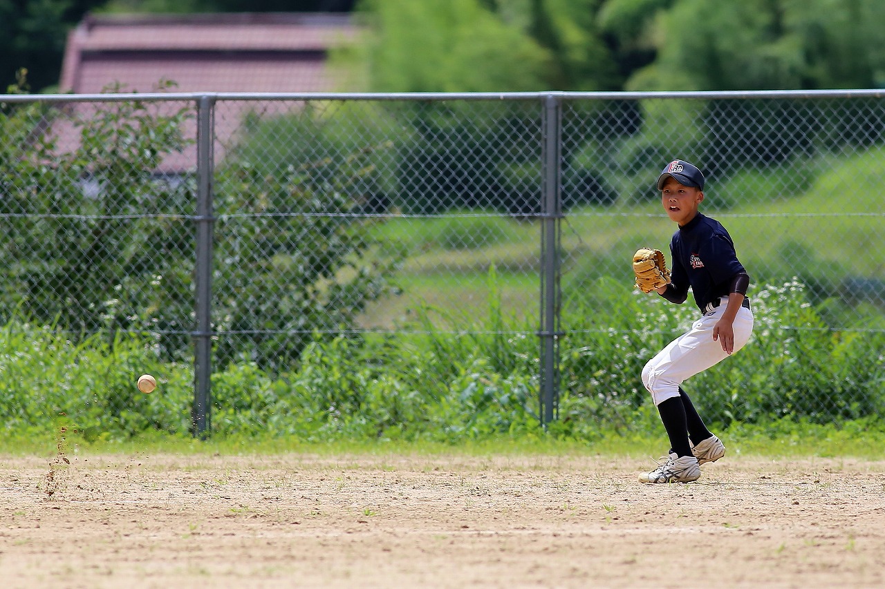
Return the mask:
M667 281L665 265L663 279L648 284L640 279L634 257L636 284L676 304L685 302L690 287L702 315L643 368L643 385L658 407L670 452L658 468L639 475L639 480L688 483L701 476L701 464L725 455L725 446L707 430L681 384L750 340L753 314L745 296L750 276L738 261L725 227L697 210L704 201L704 174L696 166L681 159L666 164L658 177L658 190L667 216L679 226L670 241L673 272Z

